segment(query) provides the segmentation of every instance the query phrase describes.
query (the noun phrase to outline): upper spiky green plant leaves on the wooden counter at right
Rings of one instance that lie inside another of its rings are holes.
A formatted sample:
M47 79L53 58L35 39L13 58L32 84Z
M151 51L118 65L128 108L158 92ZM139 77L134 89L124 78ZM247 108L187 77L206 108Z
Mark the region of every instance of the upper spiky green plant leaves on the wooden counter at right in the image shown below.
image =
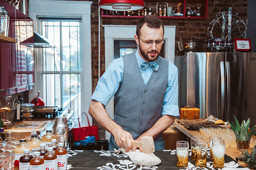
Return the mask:
M236 116L235 117L235 123L230 123L230 126L236 136L237 140L243 140L243 141L250 141L252 135L256 132L256 125L253 126L252 129L249 128L250 125L250 118L248 120L242 121L241 125L239 125Z

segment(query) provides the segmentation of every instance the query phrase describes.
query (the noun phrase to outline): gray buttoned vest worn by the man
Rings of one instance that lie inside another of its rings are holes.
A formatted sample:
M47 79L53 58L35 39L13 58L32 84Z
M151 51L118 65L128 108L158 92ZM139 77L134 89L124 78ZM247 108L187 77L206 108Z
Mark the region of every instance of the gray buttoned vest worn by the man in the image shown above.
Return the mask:
M145 85L135 53L123 56L123 61L123 80L114 98L114 121L130 132L135 140L161 117L169 62L158 57L158 71L153 71ZM155 142L160 140L163 140L162 135L155 138Z

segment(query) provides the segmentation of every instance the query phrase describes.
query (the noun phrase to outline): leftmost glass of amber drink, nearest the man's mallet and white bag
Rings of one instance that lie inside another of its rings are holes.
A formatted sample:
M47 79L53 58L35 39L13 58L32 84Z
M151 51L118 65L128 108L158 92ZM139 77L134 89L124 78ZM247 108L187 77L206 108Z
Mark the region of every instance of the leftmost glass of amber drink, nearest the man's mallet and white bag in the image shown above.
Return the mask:
M189 143L187 141L177 141L177 166L184 168L188 166L188 148Z

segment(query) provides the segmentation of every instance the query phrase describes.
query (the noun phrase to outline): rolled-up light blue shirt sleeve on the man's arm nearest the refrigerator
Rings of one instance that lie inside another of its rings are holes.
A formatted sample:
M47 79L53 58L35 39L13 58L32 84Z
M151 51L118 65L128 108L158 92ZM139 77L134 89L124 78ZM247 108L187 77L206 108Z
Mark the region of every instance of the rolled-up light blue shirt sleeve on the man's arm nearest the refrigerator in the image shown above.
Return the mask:
M162 116L179 116L178 90L178 69L169 62L169 82L165 90Z

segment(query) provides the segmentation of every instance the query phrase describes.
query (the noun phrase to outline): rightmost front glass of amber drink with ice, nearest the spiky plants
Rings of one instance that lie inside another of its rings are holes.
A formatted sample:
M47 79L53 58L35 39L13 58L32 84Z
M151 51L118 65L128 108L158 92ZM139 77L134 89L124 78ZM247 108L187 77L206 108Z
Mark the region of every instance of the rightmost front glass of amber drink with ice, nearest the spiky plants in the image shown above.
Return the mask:
M213 140L212 142L213 167L223 168L225 157L225 142Z

